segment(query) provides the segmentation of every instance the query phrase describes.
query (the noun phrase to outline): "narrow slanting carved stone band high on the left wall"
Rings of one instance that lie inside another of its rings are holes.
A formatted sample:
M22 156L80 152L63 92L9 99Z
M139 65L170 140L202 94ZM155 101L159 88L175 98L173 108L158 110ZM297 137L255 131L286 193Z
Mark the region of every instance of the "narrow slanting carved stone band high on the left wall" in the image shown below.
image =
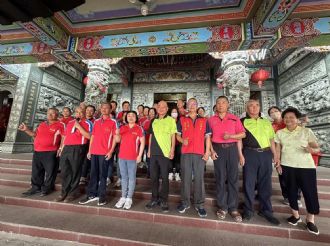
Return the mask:
M70 95L78 100L80 99L80 95L82 93L80 89L66 83L66 80L60 80L48 73L44 73L42 84L46 85L47 87L60 90L61 92Z

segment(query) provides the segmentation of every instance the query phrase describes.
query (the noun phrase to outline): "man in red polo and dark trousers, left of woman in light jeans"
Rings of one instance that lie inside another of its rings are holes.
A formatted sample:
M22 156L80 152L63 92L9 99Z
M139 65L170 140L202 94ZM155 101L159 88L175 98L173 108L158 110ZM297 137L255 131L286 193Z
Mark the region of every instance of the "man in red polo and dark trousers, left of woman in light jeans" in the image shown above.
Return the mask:
M111 105L101 104L101 118L97 119L89 143L88 158L91 159L91 175L87 197L79 204L98 201L99 206L106 202L106 185L109 168L113 165L113 152L118 138L118 124L110 116Z

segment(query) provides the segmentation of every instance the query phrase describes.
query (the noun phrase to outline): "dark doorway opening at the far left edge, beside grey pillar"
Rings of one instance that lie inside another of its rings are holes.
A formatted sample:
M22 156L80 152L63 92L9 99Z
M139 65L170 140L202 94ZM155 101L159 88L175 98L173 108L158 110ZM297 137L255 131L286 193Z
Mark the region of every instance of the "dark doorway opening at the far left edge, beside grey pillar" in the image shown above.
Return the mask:
M0 142L5 141L13 95L9 91L0 91Z

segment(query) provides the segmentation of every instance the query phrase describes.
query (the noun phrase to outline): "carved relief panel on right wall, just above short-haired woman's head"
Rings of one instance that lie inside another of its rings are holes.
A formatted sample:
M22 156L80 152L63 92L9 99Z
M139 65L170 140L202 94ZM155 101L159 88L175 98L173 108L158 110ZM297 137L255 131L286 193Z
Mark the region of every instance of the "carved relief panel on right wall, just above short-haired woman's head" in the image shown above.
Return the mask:
M282 107L293 106L303 113L330 109L330 82L322 79L282 98Z

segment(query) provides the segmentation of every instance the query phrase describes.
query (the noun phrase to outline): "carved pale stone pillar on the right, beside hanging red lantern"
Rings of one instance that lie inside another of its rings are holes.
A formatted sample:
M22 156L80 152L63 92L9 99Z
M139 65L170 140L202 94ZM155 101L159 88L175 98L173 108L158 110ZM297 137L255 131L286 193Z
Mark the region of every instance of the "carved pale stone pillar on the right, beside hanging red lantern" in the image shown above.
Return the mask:
M221 63L224 94L229 98L231 112L238 116L245 112L245 104L250 98L248 60L246 52L230 52L223 55Z

